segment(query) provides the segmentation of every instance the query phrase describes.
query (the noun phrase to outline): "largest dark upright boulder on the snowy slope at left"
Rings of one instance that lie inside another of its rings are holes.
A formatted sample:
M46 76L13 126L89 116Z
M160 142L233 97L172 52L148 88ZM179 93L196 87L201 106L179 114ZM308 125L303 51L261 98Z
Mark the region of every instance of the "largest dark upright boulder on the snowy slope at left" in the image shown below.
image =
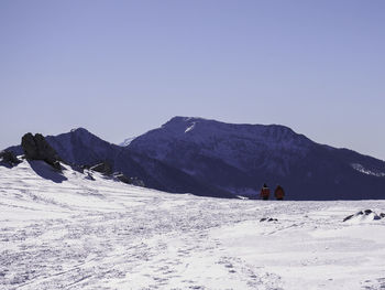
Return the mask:
M57 170L62 169L61 157L41 133L35 136L32 133L24 135L21 139L21 147L28 160L43 160Z

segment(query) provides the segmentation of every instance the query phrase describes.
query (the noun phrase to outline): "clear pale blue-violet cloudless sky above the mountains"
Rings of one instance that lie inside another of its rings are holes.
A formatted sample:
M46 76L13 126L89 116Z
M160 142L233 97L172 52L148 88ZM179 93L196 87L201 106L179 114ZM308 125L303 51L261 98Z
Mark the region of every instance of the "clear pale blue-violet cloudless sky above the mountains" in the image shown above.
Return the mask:
M385 1L0 1L0 148L173 116L280 123L385 160Z

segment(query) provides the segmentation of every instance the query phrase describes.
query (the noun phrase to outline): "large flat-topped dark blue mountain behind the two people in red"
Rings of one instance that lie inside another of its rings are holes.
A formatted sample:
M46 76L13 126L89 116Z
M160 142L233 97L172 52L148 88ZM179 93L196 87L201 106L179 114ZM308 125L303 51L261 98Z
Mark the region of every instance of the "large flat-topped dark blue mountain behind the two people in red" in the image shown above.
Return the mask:
M295 200L385 197L385 162L284 126L175 117L128 148L235 195L255 196L267 183Z

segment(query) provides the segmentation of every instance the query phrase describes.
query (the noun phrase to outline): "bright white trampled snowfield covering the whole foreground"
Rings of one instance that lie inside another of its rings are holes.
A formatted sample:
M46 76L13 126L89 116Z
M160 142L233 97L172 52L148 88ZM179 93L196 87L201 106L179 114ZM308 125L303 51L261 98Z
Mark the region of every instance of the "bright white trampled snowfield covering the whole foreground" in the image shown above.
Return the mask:
M92 175L0 167L0 289L385 289L385 201L220 200Z

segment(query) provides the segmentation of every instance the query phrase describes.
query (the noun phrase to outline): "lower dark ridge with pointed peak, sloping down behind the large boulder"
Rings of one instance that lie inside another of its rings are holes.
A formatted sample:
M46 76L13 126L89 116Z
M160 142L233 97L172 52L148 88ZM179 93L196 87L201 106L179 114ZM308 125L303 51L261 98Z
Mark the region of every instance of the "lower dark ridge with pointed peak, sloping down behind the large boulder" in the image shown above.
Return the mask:
M114 172L138 178L151 189L202 196L235 197L147 154L109 143L84 128L58 136L47 136L46 140L68 164L90 167L107 162ZM8 150L16 154L23 153L21 146L10 147Z

